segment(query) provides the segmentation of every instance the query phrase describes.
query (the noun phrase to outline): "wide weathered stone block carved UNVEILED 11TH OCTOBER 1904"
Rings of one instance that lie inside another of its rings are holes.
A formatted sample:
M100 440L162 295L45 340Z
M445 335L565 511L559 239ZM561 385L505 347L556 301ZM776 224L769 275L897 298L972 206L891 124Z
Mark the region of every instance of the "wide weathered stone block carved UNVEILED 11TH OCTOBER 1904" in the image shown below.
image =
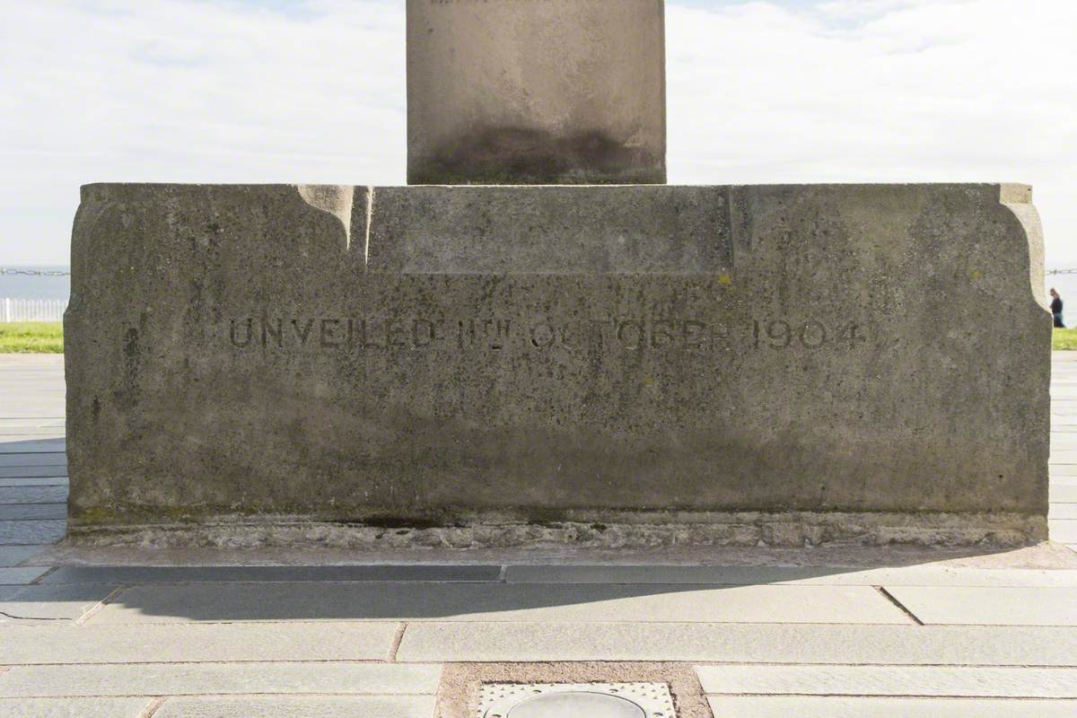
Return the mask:
M1030 199L90 185L65 335L72 518L299 515L395 536L845 511L867 533L873 512L908 515L883 541L952 515L991 529L945 540L1043 536ZM833 538L751 522L753 544Z

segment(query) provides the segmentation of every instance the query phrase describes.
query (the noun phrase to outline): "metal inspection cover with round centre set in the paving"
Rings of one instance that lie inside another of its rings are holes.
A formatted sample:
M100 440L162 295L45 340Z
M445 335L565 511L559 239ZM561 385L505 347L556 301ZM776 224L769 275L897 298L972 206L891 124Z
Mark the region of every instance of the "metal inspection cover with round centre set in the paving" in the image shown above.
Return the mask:
M666 684L482 684L477 718L676 718Z

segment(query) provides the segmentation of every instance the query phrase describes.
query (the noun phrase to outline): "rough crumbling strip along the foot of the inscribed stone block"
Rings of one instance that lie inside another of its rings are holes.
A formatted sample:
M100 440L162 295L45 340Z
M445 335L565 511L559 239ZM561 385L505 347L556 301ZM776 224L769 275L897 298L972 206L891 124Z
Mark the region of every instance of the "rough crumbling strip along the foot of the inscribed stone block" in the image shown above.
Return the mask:
M575 517L583 519L584 517ZM213 517L200 522L78 525L68 543L141 548L345 548L356 551L676 547L992 547L1046 540L1043 518L1018 513L679 513L598 512L591 521L382 525L290 516ZM600 520L601 519L601 520ZM604 521L604 522L603 522Z

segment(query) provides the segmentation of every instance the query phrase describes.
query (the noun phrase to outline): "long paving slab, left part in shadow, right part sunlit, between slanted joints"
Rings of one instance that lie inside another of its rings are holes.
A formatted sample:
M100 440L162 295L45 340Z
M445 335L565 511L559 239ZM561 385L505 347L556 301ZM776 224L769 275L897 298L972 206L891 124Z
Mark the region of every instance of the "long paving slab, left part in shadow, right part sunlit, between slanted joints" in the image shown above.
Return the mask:
M47 577L46 577L47 580ZM428 582L137 586L99 623L274 620L909 623L870 587Z

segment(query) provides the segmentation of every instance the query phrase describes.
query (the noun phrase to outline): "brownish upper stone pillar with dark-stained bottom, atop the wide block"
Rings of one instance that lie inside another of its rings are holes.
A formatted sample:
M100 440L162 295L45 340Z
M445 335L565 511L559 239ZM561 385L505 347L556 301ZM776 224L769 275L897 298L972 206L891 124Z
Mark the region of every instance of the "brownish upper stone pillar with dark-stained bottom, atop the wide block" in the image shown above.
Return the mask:
M663 0L408 0L408 182L666 182Z

